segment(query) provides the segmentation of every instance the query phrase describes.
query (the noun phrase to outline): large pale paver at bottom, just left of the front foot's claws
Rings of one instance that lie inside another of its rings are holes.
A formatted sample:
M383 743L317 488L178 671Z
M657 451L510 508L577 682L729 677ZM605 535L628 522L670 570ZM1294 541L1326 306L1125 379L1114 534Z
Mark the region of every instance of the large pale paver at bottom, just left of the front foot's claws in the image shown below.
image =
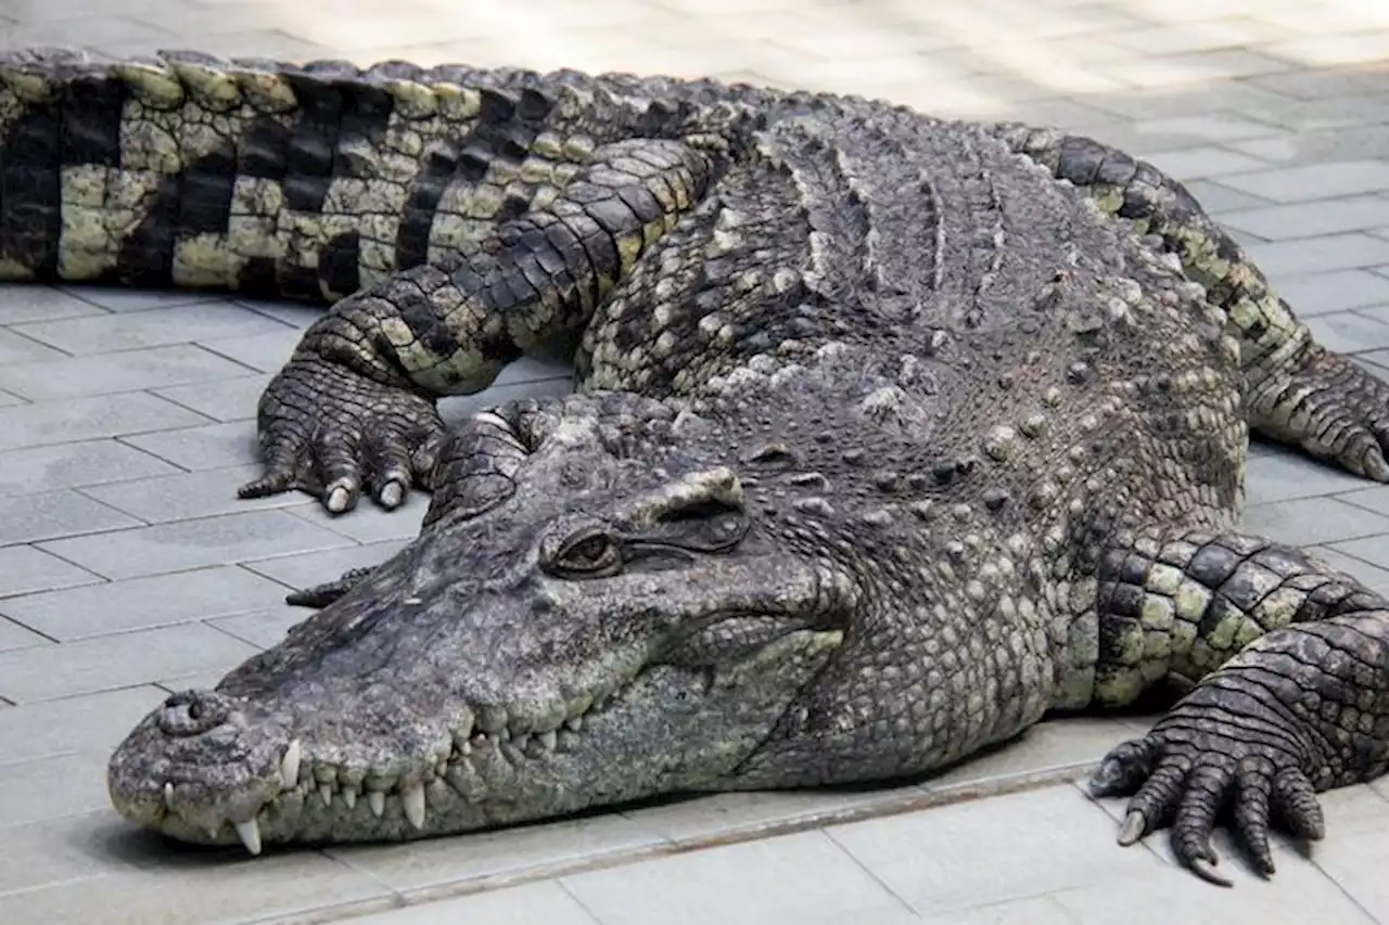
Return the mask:
M1149 875L1161 865L1150 851L1115 846L1113 819L1072 786L839 825L826 833L929 915ZM1007 851L999 851L1000 844Z

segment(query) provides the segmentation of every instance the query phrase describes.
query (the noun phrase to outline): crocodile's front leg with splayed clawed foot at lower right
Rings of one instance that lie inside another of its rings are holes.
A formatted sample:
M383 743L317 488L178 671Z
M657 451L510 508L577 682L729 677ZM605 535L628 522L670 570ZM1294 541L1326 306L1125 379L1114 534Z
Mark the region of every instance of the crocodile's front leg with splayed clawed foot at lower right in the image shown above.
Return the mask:
M1097 796L1132 794L1121 844L1171 825L1176 857L1228 885L1210 844L1229 810L1257 869L1270 824L1320 839L1315 793L1389 767L1389 601L1306 553L1207 531L1154 533L1100 558L1093 706L1192 685L1106 756Z

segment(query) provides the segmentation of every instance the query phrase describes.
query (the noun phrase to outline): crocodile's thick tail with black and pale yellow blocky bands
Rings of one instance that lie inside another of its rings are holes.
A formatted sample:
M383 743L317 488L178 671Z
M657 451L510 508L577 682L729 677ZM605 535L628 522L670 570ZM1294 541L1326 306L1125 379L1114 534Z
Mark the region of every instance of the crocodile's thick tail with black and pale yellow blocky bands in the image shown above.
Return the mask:
M678 133L642 79L193 51L0 54L0 279L335 301L478 246L592 150ZM683 99L681 99L683 97Z

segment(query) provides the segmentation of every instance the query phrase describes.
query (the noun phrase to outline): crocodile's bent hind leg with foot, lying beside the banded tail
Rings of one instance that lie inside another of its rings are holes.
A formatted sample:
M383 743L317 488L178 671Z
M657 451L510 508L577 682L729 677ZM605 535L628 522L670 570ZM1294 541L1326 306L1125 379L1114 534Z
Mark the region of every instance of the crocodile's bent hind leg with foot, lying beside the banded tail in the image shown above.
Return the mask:
M481 250L417 267L339 301L304 335L260 403L258 497L299 488L332 512L367 489L399 506L433 488L435 400L485 389L526 353L572 349L636 258L704 194L711 149L625 140L544 208Z

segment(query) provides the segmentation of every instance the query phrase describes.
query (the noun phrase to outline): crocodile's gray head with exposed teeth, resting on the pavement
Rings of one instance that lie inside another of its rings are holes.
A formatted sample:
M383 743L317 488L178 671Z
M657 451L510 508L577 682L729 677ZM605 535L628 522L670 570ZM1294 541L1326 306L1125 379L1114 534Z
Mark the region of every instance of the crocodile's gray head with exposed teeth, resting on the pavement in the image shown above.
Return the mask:
M768 532L718 440L657 429L561 428L485 476L488 504L436 492L368 579L139 722L115 807L258 851L717 788L842 644L854 592Z

